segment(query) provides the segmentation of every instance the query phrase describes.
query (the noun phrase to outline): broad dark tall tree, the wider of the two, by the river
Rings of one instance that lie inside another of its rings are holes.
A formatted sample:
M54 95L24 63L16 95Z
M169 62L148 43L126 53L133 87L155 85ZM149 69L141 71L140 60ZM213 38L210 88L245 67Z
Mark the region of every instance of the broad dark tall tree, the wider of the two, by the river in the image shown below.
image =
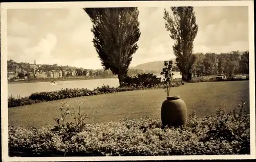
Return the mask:
M84 8L84 11L93 22L93 43L102 66L118 75L122 86L132 56L138 49L138 8Z

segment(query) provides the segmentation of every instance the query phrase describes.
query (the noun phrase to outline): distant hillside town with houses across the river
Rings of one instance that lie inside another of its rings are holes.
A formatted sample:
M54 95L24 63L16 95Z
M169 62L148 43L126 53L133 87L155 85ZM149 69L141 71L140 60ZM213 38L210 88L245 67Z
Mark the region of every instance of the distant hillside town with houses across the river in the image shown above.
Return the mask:
M71 66L58 66L57 64L34 64L17 63L14 60L7 61L8 66L8 81L23 81L23 80L40 80L40 79L61 79L61 78L107 78L116 77L111 70L104 69L83 69ZM139 70L129 69L128 75L137 75L138 73L155 73L159 70Z

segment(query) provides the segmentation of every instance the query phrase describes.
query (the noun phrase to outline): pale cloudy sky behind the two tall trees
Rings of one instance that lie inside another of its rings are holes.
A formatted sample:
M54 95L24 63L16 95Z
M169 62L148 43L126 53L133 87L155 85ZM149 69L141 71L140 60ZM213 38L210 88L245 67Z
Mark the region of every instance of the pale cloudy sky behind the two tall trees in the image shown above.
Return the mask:
M130 66L175 58L164 8L138 8L141 36ZM170 11L170 8L166 8ZM248 7L195 7L194 52L248 50ZM8 60L101 69L92 22L81 8L8 9Z

